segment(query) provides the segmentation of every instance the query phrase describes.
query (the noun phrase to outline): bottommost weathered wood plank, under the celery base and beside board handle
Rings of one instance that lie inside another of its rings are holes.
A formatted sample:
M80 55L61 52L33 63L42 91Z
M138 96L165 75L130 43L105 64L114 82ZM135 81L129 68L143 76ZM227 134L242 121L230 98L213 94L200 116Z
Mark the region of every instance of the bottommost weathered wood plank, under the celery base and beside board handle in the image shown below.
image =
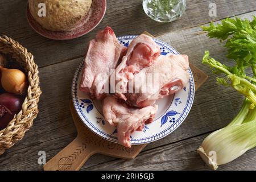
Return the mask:
M137 158L133 160L115 159L108 163L97 164L92 167L84 166L86 170L210 170L204 164L196 149L200 146L201 141L207 135L200 135L199 137L189 138L168 144L163 147L153 148L141 152ZM228 165L223 165L218 170L255 170L256 163L256 148L246 152L237 160L230 162ZM243 162L243 161L246 161ZM112 167L111 169L109 167Z

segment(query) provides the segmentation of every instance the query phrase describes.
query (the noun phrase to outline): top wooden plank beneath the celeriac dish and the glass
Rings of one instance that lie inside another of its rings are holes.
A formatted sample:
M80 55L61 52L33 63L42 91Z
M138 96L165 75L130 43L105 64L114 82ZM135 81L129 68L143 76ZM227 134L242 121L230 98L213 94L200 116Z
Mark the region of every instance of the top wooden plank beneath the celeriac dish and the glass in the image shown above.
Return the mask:
M105 26L112 27L117 36L141 34L144 30L159 36L256 9L255 0L216 0L214 3L217 5L217 17L210 17L208 6L212 2L187 1L187 11L181 18L172 23L158 23L144 13L142 0L108 0L104 19L92 32L78 39L57 41L43 38L32 30L26 19L26 0L1 0L0 35L6 34L25 46L34 54L39 67L44 67L82 57L88 41Z

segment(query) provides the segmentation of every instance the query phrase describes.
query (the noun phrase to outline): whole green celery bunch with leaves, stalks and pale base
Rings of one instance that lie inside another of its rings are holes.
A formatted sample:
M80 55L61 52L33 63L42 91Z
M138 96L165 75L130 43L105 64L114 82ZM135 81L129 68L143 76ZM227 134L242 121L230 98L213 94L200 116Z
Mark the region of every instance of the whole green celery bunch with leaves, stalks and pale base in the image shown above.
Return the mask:
M210 23L209 27L201 26L208 32L209 38L226 40L229 59L234 65L228 67L210 57L205 51L202 63L208 64L217 77L217 82L231 86L245 96L237 116L223 129L210 134L197 150L201 158L213 169L226 164L256 146L256 17L253 20L227 18L221 24ZM250 68L253 76L246 75Z

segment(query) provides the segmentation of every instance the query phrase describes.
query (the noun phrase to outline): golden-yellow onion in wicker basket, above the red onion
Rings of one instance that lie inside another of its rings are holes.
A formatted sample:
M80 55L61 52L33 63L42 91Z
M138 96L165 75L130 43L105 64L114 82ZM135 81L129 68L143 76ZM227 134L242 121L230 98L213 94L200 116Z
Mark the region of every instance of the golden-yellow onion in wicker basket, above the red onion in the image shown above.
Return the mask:
M27 77L19 69L0 67L2 73L1 85L6 92L22 94L27 87Z

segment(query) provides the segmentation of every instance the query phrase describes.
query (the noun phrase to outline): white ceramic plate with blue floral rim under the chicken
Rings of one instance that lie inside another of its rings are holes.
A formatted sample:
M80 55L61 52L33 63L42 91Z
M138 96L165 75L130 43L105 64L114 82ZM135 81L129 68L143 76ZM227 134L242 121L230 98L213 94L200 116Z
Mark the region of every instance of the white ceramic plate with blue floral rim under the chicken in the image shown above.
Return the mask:
M131 40L136 37L137 35L126 35L119 37L118 40L119 43L129 46ZM154 39L154 41L160 46L162 55L179 54L168 44L158 39ZM82 122L94 133L112 142L118 142L117 130L114 126L105 122L104 115L102 114L103 102L91 100L88 95L79 89L83 65L84 60L81 61L77 68L72 83L72 100L77 114ZM134 131L131 134L131 144L154 142L155 140L166 137L181 125L192 107L195 95L195 83L192 72L190 69L188 72L190 78L185 88L173 96L164 97L156 101L159 109L155 115L155 121L145 125L143 131Z

